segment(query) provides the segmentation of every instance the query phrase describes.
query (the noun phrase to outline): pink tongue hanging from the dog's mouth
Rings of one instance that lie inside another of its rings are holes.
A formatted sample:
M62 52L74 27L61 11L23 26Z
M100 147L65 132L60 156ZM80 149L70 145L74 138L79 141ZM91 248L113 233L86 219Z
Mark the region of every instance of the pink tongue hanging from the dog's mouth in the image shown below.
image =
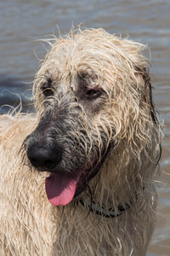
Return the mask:
M46 178L45 187L48 201L54 206L65 206L71 202L75 195L77 182L82 171L77 172L77 177L65 173L53 173Z

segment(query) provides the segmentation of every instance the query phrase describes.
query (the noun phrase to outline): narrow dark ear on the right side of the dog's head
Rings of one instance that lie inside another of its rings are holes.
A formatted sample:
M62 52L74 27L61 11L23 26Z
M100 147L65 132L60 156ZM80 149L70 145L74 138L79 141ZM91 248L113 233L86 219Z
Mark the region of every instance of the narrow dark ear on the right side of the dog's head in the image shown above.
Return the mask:
M154 107L154 103L152 100L152 87L150 83L150 73L147 68L142 68L139 70L137 68L137 77L139 77L140 81L143 85L143 95L142 101L146 102L150 108L150 114L153 122L157 124L157 117L156 117L156 109Z

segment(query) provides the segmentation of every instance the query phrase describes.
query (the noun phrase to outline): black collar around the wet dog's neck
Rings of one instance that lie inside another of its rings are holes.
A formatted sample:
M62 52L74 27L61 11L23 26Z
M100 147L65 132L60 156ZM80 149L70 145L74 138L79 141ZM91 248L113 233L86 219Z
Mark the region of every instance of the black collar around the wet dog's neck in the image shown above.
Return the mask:
M87 207L89 211L94 212L99 216L103 216L105 218L118 217L130 207L130 205L124 204L121 207L117 207L117 211L115 211L113 208L110 208L108 211L106 211L104 207L100 207L99 203L96 204L95 201L86 201L84 199L81 199L80 202L82 206Z

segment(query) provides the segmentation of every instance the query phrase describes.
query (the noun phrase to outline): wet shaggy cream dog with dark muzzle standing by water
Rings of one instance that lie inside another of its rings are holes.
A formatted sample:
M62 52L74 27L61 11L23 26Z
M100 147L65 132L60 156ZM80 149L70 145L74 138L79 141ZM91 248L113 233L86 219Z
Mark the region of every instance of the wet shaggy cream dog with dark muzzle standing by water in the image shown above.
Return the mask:
M145 255L161 128L144 45L103 29L48 43L37 114L0 118L0 255Z

